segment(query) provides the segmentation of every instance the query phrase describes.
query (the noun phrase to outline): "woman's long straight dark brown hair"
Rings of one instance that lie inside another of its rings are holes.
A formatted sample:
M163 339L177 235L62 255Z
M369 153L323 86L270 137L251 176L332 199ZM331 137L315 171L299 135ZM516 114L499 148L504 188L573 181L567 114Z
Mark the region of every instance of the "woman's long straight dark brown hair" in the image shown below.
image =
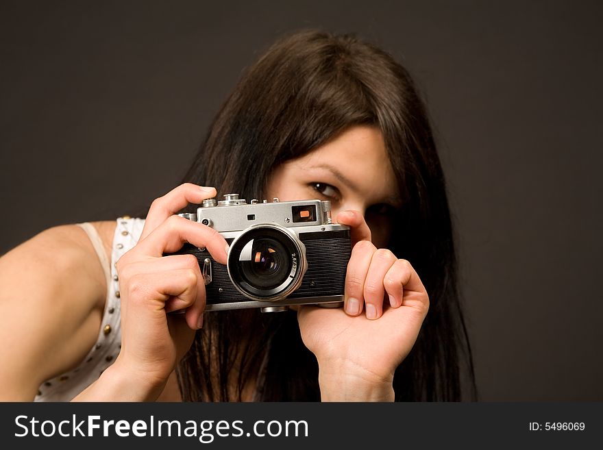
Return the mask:
M238 82L184 181L262 199L275 166L352 125L382 132L405 199L389 248L413 264L430 295L419 338L395 372L395 399L457 401L463 380L473 399L445 180L426 108L391 55L351 35L280 40ZM320 399L316 359L290 313L206 314L177 373L185 401L240 400L257 380L258 400Z

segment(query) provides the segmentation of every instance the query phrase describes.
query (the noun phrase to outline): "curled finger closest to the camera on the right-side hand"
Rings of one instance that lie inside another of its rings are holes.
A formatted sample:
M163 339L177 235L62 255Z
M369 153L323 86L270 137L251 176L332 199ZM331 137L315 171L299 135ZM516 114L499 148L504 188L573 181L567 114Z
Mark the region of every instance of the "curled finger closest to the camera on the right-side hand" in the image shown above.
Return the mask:
M344 288L344 309L350 316L362 312L365 279L376 247L368 240L361 240L354 248L347 263Z

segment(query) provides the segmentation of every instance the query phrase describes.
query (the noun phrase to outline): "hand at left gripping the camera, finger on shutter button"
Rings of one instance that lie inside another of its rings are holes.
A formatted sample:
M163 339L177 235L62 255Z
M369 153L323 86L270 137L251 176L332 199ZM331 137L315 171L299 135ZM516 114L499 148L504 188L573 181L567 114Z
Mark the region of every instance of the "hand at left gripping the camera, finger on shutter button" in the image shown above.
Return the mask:
M197 259L163 254L190 242L226 264L228 247L218 232L175 215L188 203L215 195L214 188L182 184L153 201L140 240L117 262L122 343L106 373L112 380L124 380L124 387L135 382L134 397L159 395L203 324L206 293ZM176 310L185 312L168 315Z

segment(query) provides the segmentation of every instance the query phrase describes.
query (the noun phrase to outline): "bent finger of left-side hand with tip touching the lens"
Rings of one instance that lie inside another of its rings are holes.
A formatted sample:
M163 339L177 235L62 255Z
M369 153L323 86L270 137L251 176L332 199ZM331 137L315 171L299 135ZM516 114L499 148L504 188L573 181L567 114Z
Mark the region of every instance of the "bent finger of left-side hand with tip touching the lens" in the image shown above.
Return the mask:
M199 248L206 247L214 260L226 264L228 245L215 229L189 221L180 216L170 216L136 245L136 253L159 258L163 253L173 253L184 242Z

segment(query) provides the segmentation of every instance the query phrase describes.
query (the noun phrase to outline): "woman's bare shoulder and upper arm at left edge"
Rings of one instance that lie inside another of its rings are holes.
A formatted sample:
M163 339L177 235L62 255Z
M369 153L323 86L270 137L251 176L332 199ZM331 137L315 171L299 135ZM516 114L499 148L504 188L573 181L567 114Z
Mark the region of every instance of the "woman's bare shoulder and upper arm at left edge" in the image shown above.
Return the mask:
M95 223L110 249L114 223ZM83 229L53 227L0 258L0 400L29 401L93 347L106 279Z

